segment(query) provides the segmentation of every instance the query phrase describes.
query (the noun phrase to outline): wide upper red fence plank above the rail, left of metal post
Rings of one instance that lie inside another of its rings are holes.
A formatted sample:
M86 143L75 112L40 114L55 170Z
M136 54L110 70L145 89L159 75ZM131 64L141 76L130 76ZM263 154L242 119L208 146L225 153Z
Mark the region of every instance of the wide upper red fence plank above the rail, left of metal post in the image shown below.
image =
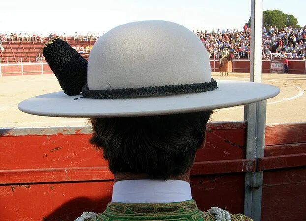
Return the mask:
M234 160L245 158L245 129L232 124L215 125L218 129L207 131L206 146L198 151L196 161ZM238 129L231 129L236 127ZM243 125L244 127L244 125ZM219 129L222 128L222 129ZM27 131L6 132L2 136L0 152L1 170L34 168L67 168L107 166L103 152L89 143L91 134L73 134L74 130L53 129L57 135L35 135ZM37 131L36 131L37 132ZM50 133L50 131L43 131ZM66 135L62 133L68 133ZM72 134L69 134L72 133ZM24 160L27 159L27 160Z

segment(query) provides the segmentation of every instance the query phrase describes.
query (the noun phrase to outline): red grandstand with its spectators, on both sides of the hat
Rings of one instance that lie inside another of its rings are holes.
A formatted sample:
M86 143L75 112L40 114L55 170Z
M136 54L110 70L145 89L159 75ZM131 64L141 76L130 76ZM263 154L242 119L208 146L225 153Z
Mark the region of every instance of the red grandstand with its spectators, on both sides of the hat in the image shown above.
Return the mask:
M250 28L244 31L220 30L216 32L207 31L195 32L199 39L205 45L211 59L218 59L224 49L228 49L234 54L235 59L249 59L250 55ZM52 36L52 35L51 35ZM54 34L55 36L55 34ZM62 37L62 36L61 36ZM97 37L94 36L75 36L65 37L68 43L73 46L86 47L92 46ZM77 38L78 40L74 40ZM35 62L37 55L42 54L44 41L49 37L33 38L28 37L28 41L20 41L23 38L4 37L2 34L1 40L4 51L0 52L1 62L17 63L17 62ZM66 40L66 39L65 39ZM295 60L305 60L306 57L306 27L293 28L282 27L262 29L262 59L272 60L281 59L283 57Z

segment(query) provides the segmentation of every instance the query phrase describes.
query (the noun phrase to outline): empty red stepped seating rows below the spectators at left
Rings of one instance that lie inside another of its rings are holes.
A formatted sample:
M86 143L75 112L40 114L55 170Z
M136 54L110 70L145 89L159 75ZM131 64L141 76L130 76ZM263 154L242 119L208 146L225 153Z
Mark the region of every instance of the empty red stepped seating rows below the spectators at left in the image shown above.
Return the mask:
M68 43L74 47L92 46L95 41L73 40L73 37L67 37ZM44 47L44 42L3 42L4 51L0 52L1 62L18 63L18 62L36 62L36 57Z

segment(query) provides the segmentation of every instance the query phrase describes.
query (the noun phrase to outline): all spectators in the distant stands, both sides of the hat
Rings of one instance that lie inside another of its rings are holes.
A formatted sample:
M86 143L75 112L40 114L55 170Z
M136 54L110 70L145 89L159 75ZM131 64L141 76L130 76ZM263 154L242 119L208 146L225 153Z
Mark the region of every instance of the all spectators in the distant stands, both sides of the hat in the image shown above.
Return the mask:
M194 31L193 31L194 32ZM243 30L238 29L227 29L212 31L197 30L195 34L205 45L210 58L218 59L219 56L225 50L235 55L236 59L249 58L250 55L250 36L251 29L245 24ZM52 37L57 36L56 33L50 33L49 36L43 36L42 34L1 34L0 33L0 44L1 42L46 42ZM306 57L306 26L303 28L283 27L278 29L277 27L263 27L262 30L262 57L263 59L281 59L287 57L289 59L305 59ZM59 35L59 37L65 41L68 37L65 33ZM97 34L82 35L75 32L72 39L74 42L77 41L96 41L99 38ZM89 53L92 46L74 46L79 53Z

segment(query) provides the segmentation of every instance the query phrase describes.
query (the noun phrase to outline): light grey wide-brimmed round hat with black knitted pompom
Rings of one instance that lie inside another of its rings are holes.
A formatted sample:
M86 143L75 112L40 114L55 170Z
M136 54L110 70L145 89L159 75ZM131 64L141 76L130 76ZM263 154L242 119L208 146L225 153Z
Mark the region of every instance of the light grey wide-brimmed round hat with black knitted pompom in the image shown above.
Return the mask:
M24 100L21 111L57 117L163 115L244 105L279 93L262 83L215 81L203 43L172 22L118 26L94 44L88 64L69 47L53 39L44 48L63 91Z

